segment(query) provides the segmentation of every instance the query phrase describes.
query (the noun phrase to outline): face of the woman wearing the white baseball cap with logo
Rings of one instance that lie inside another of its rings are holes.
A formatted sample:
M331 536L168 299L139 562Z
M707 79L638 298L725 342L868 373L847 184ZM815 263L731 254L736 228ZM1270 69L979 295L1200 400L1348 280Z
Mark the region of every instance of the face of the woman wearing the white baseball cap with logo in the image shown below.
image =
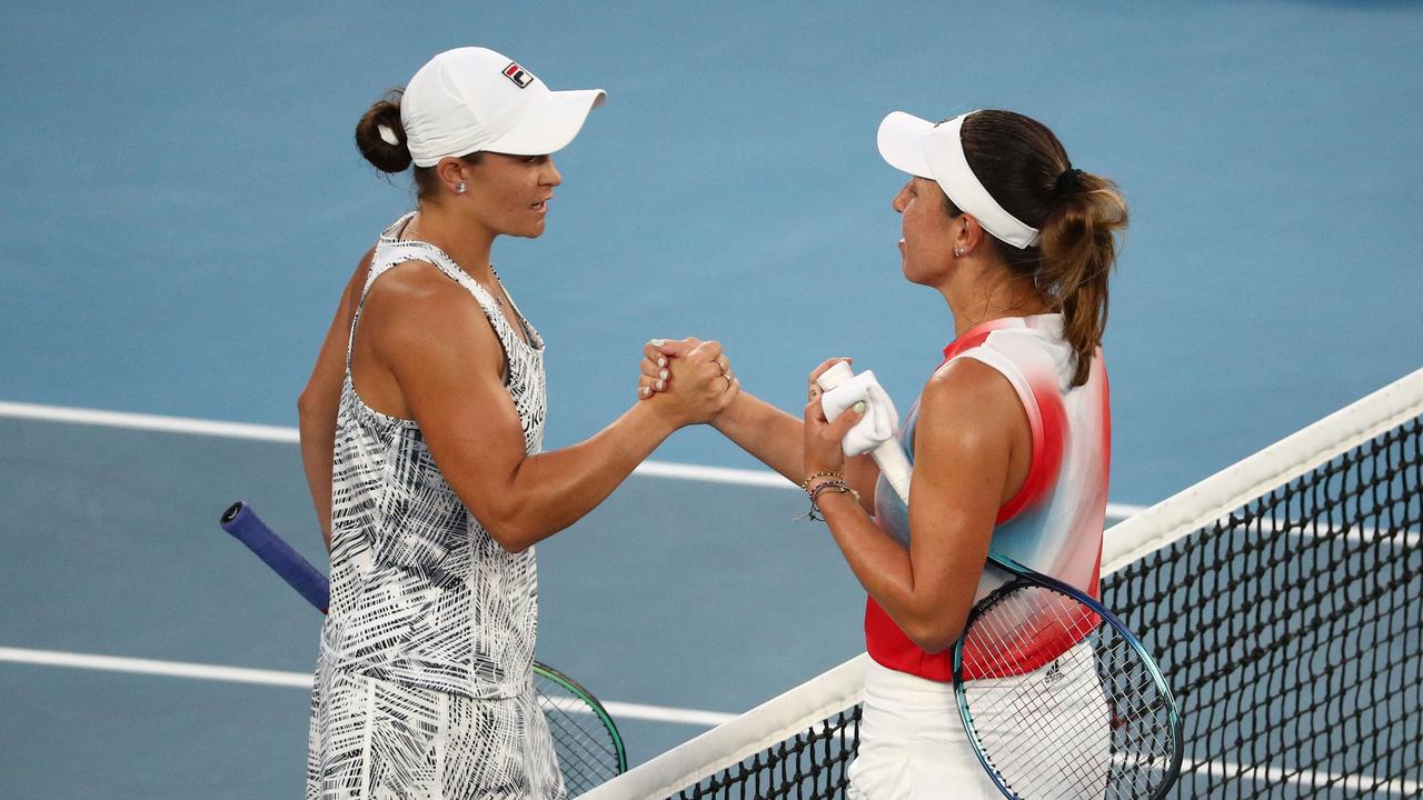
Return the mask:
M548 201L564 177L551 155L485 152L465 167L470 214L494 235L535 238L544 232Z

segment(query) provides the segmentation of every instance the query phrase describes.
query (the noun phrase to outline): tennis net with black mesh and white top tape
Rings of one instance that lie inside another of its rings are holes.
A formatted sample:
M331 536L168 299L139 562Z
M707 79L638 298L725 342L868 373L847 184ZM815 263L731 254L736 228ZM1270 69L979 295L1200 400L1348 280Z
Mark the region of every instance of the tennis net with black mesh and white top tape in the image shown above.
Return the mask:
M1107 531L1185 719L1173 797L1423 796L1423 370ZM865 659L586 794L845 794Z

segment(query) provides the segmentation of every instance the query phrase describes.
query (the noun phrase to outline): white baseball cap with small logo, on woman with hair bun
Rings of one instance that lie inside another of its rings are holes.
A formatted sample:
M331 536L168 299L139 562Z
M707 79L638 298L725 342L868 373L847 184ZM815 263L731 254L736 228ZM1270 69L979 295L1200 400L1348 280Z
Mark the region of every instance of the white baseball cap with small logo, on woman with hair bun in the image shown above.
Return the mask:
M417 167L480 151L548 155L573 141L606 97L601 88L551 91L512 58L458 47L410 78L400 124Z

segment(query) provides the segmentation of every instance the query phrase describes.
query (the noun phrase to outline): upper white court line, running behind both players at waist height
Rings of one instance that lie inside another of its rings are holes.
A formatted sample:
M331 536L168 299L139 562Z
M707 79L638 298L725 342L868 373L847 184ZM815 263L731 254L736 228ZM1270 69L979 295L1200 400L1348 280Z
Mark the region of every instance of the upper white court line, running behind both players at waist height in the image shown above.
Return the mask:
M164 417L158 414L104 411L100 409L73 409L67 406L38 406L34 403L0 401L0 417L128 430L216 436L223 438L242 438L248 441L277 441L283 444L297 444L300 441L297 430L293 427L223 423L219 420ZM756 485L800 491L800 487L768 470L736 470L730 467L703 467L699 464L677 464L672 461L643 461L636 470L633 470L633 474L646 478L670 478L680 481L704 481L726 485ZM1146 505L1109 502L1107 518L1126 520L1127 517L1138 514L1144 510Z

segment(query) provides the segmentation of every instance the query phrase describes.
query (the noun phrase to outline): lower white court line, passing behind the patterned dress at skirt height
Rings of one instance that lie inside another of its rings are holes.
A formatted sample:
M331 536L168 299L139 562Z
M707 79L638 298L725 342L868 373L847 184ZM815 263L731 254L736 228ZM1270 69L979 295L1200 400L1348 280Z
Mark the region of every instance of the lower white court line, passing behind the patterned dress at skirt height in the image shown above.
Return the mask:
M289 686L293 689L306 689L307 692L312 689L312 675L309 672L280 672L276 669L250 669L245 666L219 666L213 663L191 663L181 660L101 656L63 651L37 651L30 648L0 648L0 662L97 669L101 672L128 672L134 675L161 675L164 678L192 678L196 680L219 680L225 683ZM608 713L622 719L643 719L650 722L673 722L680 725L713 727L736 717L736 715L704 712L697 709L620 703L618 700L601 702L603 703L603 707L608 709ZM588 713L592 713L592 710L589 709Z

